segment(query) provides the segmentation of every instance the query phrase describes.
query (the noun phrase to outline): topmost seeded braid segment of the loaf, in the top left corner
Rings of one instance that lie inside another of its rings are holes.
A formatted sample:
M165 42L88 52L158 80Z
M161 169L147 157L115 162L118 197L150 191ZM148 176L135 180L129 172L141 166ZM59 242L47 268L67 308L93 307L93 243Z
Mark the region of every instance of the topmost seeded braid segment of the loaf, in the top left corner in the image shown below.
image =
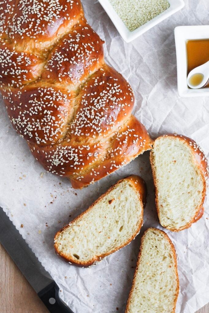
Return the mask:
M1 38L27 51L39 52L48 48L83 17L79 0L56 3L52 0L3 0L1 2Z

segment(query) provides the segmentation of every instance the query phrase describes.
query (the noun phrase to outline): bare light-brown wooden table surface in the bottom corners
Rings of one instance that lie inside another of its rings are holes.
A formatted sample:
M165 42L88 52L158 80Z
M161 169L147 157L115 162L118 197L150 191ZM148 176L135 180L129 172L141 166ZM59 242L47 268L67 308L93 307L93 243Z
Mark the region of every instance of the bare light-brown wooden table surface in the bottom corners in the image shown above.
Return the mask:
M0 313L49 313L0 245ZM208 313L209 304L196 313Z

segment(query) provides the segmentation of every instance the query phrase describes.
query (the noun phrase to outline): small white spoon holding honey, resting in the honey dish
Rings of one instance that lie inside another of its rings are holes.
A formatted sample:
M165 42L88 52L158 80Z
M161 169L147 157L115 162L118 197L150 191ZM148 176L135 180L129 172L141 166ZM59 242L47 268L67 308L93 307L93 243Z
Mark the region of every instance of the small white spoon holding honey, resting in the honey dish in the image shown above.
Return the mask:
M192 69L187 76L187 85L192 89L202 88L209 81L209 61Z

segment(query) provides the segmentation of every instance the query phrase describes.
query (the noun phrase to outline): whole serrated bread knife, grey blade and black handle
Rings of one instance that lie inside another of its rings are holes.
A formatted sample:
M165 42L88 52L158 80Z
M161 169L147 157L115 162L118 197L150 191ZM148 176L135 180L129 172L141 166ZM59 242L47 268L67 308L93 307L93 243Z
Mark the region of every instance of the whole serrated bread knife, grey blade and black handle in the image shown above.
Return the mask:
M0 207L0 243L51 313L73 313L59 298L59 287Z

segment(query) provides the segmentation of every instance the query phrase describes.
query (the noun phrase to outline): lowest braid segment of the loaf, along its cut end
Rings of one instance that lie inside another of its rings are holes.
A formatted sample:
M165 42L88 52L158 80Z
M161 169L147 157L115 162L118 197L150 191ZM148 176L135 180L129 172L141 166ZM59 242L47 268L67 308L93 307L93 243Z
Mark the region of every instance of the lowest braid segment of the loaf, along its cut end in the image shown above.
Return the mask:
M132 129L135 131L131 132ZM153 141L147 134L145 127L131 115L127 125L121 128L112 139L110 138L109 146L106 149L107 153L102 155L101 161L98 159L97 162L92 163L92 167L88 167L87 171L84 170L70 177L72 187L77 189L88 186L113 173L131 162L139 154L150 150L152 143Z

